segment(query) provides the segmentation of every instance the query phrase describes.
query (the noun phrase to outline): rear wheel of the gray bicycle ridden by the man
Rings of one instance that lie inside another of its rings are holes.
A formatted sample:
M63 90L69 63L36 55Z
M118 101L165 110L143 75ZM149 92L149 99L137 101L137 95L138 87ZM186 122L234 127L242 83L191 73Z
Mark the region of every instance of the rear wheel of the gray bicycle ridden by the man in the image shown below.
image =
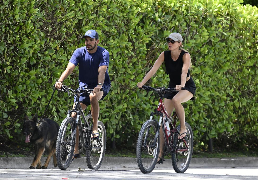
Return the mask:
M99 132L99 140L98 139L91 139L91 148L92 147L101 147L100 149L92 149L86 150L86 163L89 169L97 170L100 168L102 161L104 159L105 151L106 151L106 129L103 122L98 121L98 132Z

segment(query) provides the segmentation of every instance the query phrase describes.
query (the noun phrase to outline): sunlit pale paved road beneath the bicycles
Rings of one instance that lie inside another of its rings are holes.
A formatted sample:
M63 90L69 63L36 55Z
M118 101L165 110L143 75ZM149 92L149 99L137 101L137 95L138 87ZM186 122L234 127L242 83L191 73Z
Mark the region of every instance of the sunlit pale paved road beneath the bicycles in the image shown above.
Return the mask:
M255 168L189 168L184 174L177 174L173 168L156 167L150 174L143 174L137 168L106 167L103 170L78 168L54 169L0 169L0 179L258 179Z

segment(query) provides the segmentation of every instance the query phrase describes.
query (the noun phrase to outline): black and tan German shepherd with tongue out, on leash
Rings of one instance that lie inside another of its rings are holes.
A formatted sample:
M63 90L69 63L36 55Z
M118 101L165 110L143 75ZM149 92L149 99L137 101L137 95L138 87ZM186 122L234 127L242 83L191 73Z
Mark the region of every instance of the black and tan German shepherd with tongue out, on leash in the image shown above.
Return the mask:
M31 142L34 145L35 157L30 169L47 169L51 156L54 158L54 166L57 167L57 159L55 156L55 144L57 141L57 133L59 125L51 119L44 118L41 123L38 124L38 115L35 114L32 120L29 120L28 116L24 115L24 123L22 132L26 136L25 142ZM48 154L47 159L43 166L41 166L41 156L46 152Z

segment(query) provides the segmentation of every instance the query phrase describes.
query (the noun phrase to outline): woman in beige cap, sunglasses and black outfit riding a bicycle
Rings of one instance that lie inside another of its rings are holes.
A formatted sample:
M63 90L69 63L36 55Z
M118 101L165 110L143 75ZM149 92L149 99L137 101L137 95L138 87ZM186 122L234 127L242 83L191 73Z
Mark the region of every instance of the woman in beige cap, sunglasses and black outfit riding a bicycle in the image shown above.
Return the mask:
M170 77L168 87L174 87L179 92L167 92L164 95L164 106L167 110L168 115L171 116L175 109L176 114L180 120L180 134L178 139L182 139L186 136L187 130L185 126L185 115L184 107L181 103L187 102L188 100L194 100L193 95L195 94L196 86L190 76L191 58L190 54L182 49L182 35L179 33L171 33L166 38L168 44L168 51L163 51L158 59L155 61L151 70L143 78L142 82L137 83L139 88L142 86L157 72L163 62L165 62L166 73ZM181 90L185 87L185 90ZM160 133L162 128L160 129ZM163 161L163 150L164 150L164 137L160 139L160 150L157 163Z

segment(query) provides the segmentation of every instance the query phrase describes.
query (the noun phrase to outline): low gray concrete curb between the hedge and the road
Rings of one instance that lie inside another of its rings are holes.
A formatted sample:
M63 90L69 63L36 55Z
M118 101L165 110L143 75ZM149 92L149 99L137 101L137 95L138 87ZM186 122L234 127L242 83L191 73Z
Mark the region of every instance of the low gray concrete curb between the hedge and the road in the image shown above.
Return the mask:
M34 157L0 157L0 169L28 169ZM41 158L42 165L46 157ZM70 168L87 169L86 158L75 159ZM171 159L166 159L163 164L157 164L156 167L172 168ZM211 168L211 167L252 167L258 168L258 157L237 157L237 158L192 158L190 168ZM55 168L53 158L49 163L48 169ZM58 168L58 167L56 167ZM112 168L135 168L138 169L136 158L129 157L104 157L100 169Z

